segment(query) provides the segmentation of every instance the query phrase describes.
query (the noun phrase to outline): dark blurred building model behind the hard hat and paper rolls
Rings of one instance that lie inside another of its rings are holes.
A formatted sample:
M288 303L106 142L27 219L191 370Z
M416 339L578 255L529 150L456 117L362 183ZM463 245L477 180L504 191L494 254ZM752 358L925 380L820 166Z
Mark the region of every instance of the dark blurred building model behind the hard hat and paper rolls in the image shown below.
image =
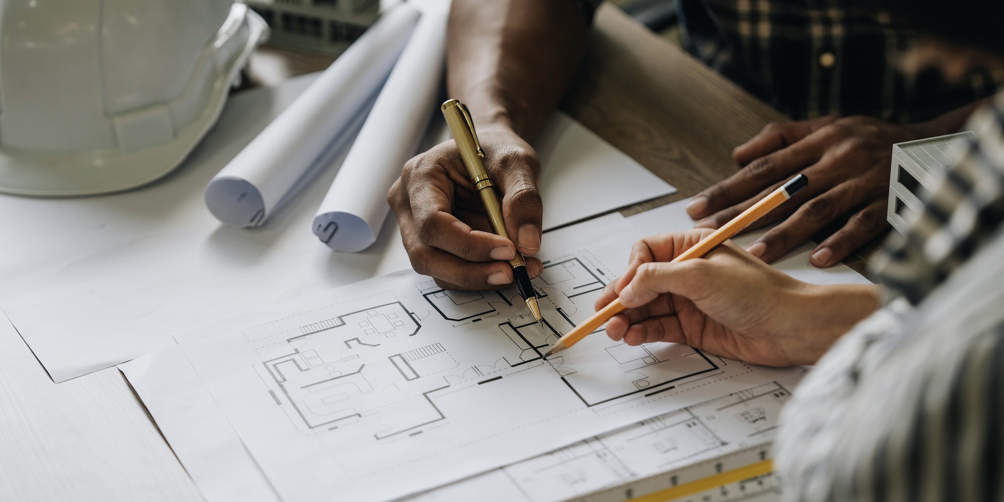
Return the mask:
M242 0L272 28L271 42L340 54L369 27L388 0Z

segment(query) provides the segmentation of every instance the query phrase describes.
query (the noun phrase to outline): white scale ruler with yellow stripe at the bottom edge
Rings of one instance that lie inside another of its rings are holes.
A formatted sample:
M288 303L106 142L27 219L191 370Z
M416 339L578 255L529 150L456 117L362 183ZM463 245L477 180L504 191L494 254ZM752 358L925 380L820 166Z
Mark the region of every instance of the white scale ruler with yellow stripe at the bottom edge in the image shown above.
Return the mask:
M777 500L770 445L740 450L704 462L641 478L576 499L578 502L726 502Z

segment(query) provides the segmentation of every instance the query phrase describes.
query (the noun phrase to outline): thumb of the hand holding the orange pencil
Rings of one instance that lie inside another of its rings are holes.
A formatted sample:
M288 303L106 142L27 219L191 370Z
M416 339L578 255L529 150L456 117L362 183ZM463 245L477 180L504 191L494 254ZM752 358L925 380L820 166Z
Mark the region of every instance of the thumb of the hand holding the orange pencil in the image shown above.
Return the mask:
M694 299L706 276L707 260L652 262L638 267L631 283L620 290L620 303L626 308L643 306L664 293Z

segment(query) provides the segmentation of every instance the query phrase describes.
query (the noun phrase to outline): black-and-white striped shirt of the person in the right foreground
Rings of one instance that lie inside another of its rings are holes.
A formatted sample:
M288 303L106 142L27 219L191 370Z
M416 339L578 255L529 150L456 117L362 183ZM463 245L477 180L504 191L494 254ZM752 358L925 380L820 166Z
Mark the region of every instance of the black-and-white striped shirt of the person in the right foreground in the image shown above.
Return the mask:
M1004 500L1004 95L874 268L896 296L787 405L787 500Z

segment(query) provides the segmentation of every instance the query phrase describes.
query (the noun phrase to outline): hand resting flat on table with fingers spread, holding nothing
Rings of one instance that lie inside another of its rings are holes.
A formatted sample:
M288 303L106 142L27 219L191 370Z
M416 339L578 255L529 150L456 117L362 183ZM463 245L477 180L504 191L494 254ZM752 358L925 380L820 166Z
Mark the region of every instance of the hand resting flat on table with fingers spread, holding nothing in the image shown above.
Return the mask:
M746 249L770 263L824 227L848 218L812 250L812 264L833 265L887 227L893 144L917 138L912 127L877 118L824 116L770 123L733 152L743 169L687 206L698 228L718 228L798 173L809 186L762 218L777 225Z

